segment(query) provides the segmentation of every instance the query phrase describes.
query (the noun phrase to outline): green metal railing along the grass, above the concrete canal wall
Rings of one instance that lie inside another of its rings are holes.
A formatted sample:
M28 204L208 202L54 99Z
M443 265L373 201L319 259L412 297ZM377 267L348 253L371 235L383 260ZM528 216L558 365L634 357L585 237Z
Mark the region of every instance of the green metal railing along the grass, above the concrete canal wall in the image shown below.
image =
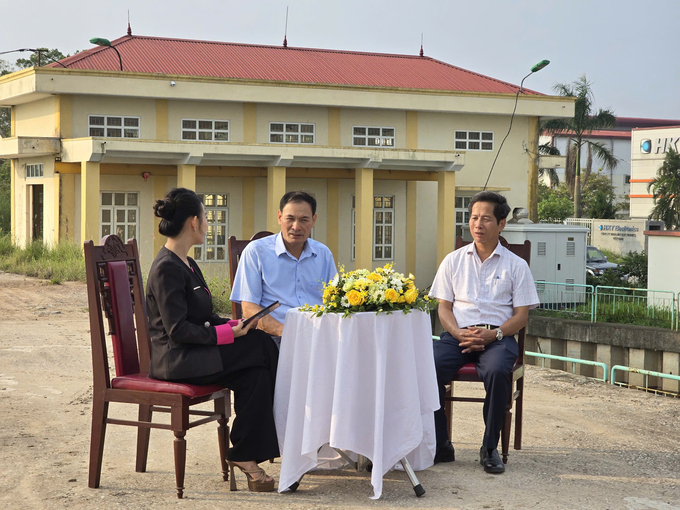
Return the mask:
M680 329L680 292L535 281L532 313L563 319Z

